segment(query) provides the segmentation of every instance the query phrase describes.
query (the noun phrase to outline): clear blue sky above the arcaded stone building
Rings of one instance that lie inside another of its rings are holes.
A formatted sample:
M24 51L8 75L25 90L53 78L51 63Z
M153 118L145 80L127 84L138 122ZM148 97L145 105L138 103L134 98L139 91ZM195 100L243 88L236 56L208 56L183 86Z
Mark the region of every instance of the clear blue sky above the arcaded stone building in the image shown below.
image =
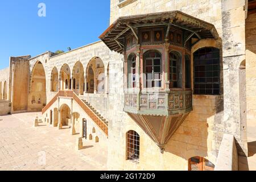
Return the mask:
M39 3L46 17L38 16ZM109 0L9 0L0 3L0 69L10 56L67 51L96 42L109 26Z

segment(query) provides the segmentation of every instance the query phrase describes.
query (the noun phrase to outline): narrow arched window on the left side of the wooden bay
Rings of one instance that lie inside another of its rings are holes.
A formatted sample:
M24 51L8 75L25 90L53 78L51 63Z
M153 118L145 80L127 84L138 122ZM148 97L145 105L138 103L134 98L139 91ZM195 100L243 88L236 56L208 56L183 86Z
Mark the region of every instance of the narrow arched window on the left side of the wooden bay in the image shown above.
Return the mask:
M127 86L128 88L136 88L136 55L132 53L127 60Z

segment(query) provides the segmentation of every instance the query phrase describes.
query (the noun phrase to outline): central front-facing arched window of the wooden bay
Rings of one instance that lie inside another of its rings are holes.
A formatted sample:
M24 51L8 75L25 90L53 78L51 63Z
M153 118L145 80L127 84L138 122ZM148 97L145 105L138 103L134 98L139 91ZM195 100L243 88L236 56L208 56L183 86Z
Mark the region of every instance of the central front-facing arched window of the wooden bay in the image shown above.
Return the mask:
M145 88L160 88L162 87L162 55L156 50L150 50L144 53L144 80Z

